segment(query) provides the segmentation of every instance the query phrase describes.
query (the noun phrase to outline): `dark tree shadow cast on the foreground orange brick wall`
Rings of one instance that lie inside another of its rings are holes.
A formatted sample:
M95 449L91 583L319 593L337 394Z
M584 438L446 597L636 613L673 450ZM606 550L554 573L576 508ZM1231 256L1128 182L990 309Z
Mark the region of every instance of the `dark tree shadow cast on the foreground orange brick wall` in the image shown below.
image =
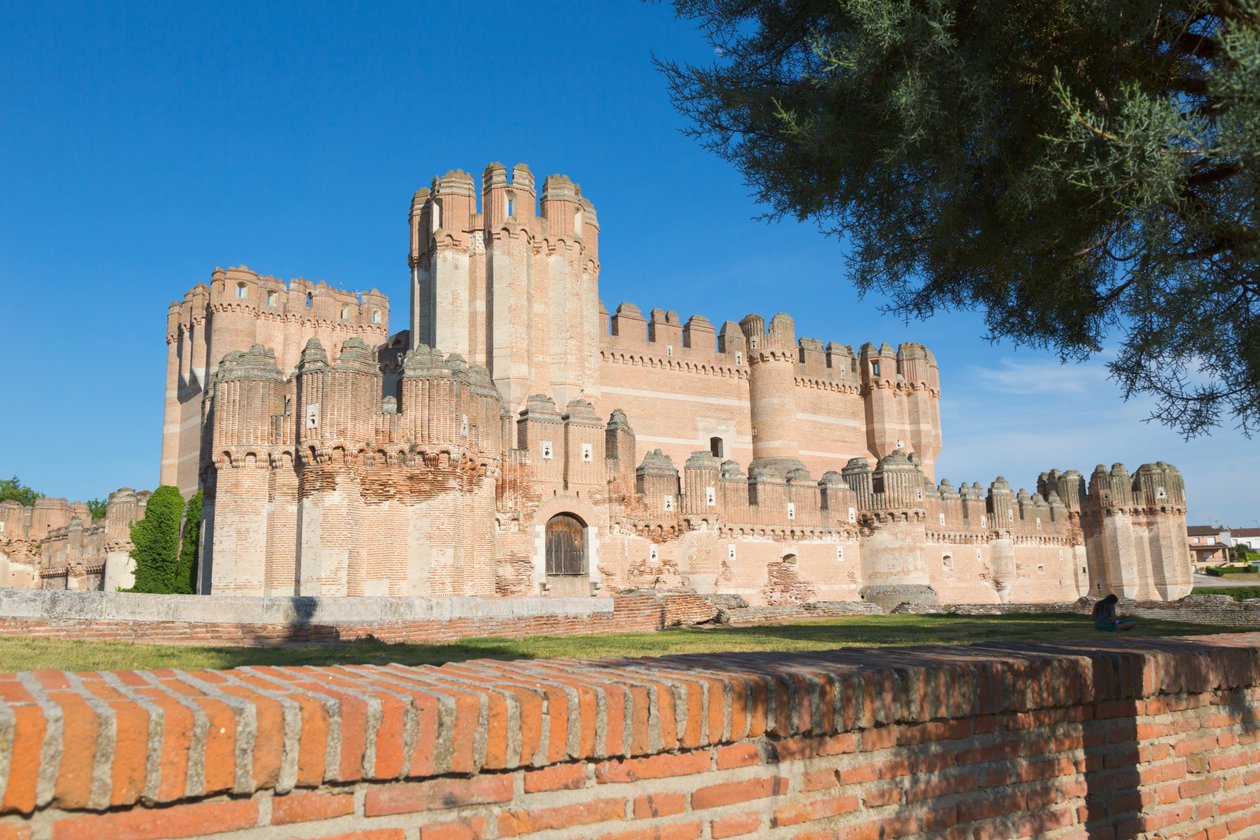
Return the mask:
M1193 709L1196 695L1213 690L1217 708L1245 732L1260 729L1260 709L1247 701L1246 689L1218 688L1221 674L1192 640L1150 645L1176 654L1176 661L1109 641L794 654L788 666L765 654L593 665L631 666L648 679L655 671L663 681L670 673L743 675L737 683L747 686L750 717L767 719L767 730L776 733L761 739L764 763L822 758L818 771L805 773L805 790L820 797L808 806L815 814L810 820L820 819L819 809L839 816L861 802L878 809L878 836L956 825L983 825L987 836L1041 836L1080 825L1089 837L1114 840L1155 830L1159 820L1200 819L1194 805L1174 801L1153 812L1143 797L1149 800L1163 772L1174 790L1178 778L1211 778L1212 748L1187 748L1182 761L1158 732L1139 737L1139 718L1148 725L1166 710ZM1081 655L1072 656L1072 647ZM803 681L801 671L813 675ZM750 673L764 678L764 688L747 679ZM1186 695L1189 701L1178 704ZM806 734L785 738L782 732ZM1174 732L1182 737L1178 747L1196 737ZM740 741L738 733L731 739ZM800 810L799 802L784 802L789 806L775 810L774 825ZM1169 817L1169 809L1189 816Z

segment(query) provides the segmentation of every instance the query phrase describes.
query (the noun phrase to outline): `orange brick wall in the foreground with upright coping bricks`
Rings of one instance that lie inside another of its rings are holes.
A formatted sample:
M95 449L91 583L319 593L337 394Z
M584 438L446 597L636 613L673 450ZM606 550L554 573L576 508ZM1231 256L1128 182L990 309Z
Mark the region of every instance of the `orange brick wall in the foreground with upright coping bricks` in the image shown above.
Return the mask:
M0 837L1256 836L1257 645L8 675Z

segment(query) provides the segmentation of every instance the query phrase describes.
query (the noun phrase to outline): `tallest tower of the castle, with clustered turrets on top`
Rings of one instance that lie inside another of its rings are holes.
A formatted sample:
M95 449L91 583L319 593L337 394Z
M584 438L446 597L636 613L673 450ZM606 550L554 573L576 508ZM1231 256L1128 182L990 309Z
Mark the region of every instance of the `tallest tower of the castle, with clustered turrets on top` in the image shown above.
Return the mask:
M452 170L411 203L411 343L484 365L515 413L532 393L598 395L600 223L564 175Z

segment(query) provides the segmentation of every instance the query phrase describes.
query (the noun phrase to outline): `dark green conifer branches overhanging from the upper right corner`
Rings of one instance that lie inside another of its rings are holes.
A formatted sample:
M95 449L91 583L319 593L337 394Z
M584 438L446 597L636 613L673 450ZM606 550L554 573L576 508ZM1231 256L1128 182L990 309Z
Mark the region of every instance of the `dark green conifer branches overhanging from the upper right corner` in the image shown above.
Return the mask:
M658 62L774 217L906 317L1109 366L1193 436L1260 428L1260 0L675 0Z

